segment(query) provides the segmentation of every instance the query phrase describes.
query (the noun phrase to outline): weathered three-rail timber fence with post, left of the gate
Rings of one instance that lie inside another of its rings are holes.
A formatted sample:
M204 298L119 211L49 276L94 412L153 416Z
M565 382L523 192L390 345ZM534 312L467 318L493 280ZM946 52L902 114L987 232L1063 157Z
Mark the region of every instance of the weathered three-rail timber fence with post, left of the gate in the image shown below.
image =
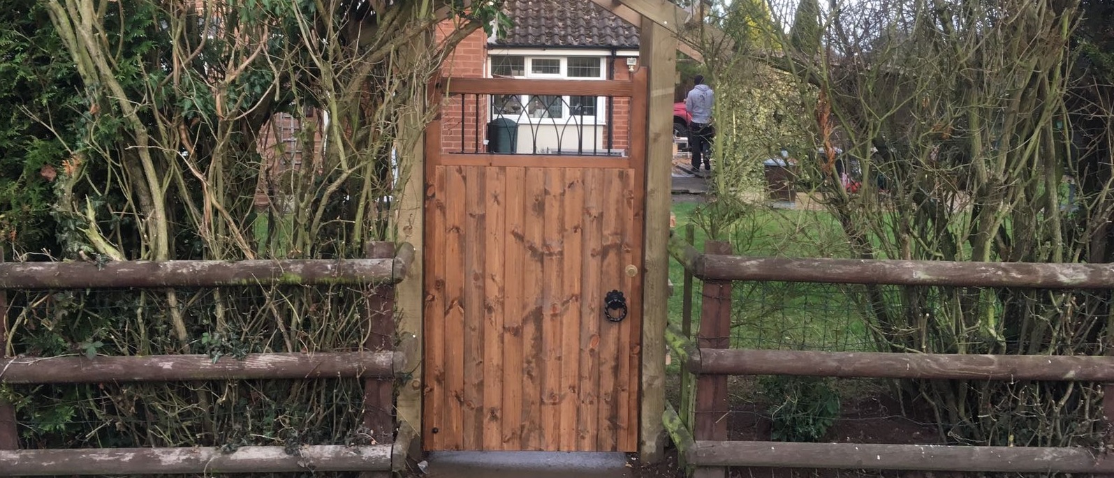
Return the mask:
M167 382L355 378L363 381L367 446L248 446L221 448L18 449L14 408L0 399L0 476L160 475L365 471L405 466L413 437L393 437L393 386L405 375L407 351L394 336L394 284L413 262L410 244L371 243L367 258L293 261L126 261L4 263L0 257L0 383ZM2 357L7 351L9 290L217 287L251 285L363 287L362 351L250 353L214 360L203 354L129 357Z

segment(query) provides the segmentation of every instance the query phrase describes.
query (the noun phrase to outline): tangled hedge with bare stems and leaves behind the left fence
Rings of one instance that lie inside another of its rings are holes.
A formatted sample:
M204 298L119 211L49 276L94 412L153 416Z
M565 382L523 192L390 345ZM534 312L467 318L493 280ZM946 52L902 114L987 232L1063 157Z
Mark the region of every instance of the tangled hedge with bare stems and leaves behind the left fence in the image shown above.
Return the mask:
M0 10L0 244L51 256L21 260L362 256L367 241L388 238L392 206L380 198L395 187L391 160L408 154L402 133L422 130L442 49L507 20L501 2L485 2L422 51L411 43L432 37L431 12L447 1L421 14L417 2L311 0L68 10L84 1ZM295 133L275 133L286 126L280 114ZM18 311L9 347L22 357L238 360L351 350L368 333L354 306L363 291L342 287L11 291L9 300ZM0 397L16 404L23 448L295 452L391 432L362 428L355 379L0 386Z

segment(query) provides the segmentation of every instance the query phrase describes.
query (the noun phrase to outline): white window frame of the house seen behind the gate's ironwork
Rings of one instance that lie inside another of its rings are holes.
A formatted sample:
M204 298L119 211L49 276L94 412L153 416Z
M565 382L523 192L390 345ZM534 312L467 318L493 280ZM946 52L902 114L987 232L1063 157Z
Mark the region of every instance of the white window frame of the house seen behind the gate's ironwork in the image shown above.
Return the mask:
M585 51L585 52L580 52L580 51L575 51L575 52L565 51L565 52L563 52L564 55L557 55L556 52L553 52L553 51L540 51L540 52L517 52L517 51L514 51L514 50L499 51L498 55L496 55L494 52L490 53L490 55L488 55L486 70L487 70L488 78L491 78L494 76L492 71L491 71L491 67L492 67L491 58L494 58L494 57L515 56L515 57L522 57L522 71L525 72L525 75L524 76L515 76L512 78L526 78L526 79L565 79L565 80L573 80L573 81L578 81L578 80L602 80L602 79L606 79L607 78L607 58L609 58L609 56L610 56L609 52L606 52L606 55L598 55L598 53L603 53L603 52L604 51L600 51L600 52L595 52L595 51L593 51L593 52L588 52L588 51ZM597 58L599 60L599 76L598 77L569 77L568 76L568 58L569 57ZM558 59L558 60L560 60L560 72L559 74L535 74L532 71L532 61L535 59ZM530 95L519 95L519 101L524 106L522 113L518 114L517 117L516 116L511 116L511 115L504 115L502 117L504 118L514 119L516 123L518 123L520 125L538 125L538 124L540 124L540 125L554 125L554 124L557 124L557 125L582 125L582 126L604 126L604 125L607 125L607 115L606 114L599 115L599 113L606 113L605 108L607 106L607 97L604 97L604 96L597 96L596 97L596 114L595 115L592 115L592 116L588 116L588 115L580 116L580 115L574 115L573 111L571 111L571 108L570 108L571 105L570 104L571 104L571 97L573 96L586 96L586 95L564 95L564 96L561 96L561 117L560 118L535 118L535 117L529 116L526 113L526 108L525 107L527 105L529 105ZM495 117L495 111L491 108L489 108L488 109L488 115L490 117ZM583 120L582 120L582 118L583 118Z

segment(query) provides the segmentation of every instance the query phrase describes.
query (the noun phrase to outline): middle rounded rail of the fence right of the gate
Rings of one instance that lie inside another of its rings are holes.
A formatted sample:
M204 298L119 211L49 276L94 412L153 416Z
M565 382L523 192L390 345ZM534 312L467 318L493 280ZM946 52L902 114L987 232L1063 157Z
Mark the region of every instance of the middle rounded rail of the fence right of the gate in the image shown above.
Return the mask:
M698 365L697 365L698 364ZM702 349L697 373L927 380L1114 381L1114 357Z

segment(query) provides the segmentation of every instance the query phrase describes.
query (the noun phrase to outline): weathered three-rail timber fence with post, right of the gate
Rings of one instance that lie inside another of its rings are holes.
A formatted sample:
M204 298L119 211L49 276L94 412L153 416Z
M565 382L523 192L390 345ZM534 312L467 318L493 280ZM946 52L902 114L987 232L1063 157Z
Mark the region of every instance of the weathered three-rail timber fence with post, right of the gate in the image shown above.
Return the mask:
M685 270L681 326L666 343L682 362L678 408L663 423L697 477L723 478L726 467L876 469L976 472L1114 474L1100 450L882 443L731 441L730 375L809 375L930 380L1043 380L1114 383L1114 357L986 355L902 352L731 350L731 287L735 281L834 284L1111 289L1114 264L971 263L838 258L760 258L731 255L727 243L709 241L705 253L676 235L670 253ZM700 329L691 334L692 279L703 281ZM1104 408L1114 406L1104 396Z

